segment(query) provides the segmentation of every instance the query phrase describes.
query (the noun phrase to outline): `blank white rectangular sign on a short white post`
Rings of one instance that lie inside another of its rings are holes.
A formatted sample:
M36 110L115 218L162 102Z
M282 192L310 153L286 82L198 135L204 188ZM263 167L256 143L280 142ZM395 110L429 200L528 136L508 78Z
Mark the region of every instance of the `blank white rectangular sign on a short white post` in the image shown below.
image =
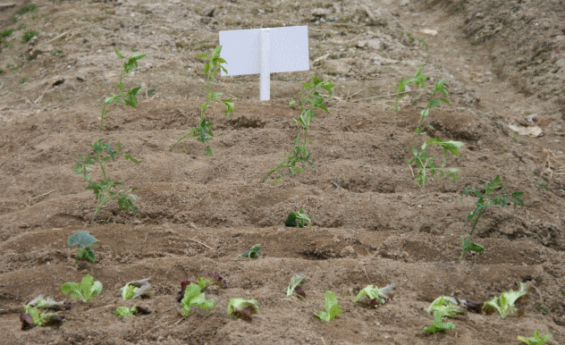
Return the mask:
M307 26L220 31L220 46L229 75L260 74L262 101L271 99L271 73L309 70Z

